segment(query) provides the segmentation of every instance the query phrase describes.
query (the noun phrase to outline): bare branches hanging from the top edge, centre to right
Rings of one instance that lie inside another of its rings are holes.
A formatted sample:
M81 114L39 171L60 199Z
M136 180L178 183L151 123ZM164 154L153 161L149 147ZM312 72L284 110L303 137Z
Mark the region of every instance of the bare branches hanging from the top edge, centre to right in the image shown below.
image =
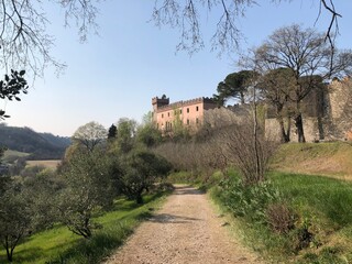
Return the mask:
M273 2L280 1L285 0ZM320 3L317 20L322 12L331 14L324 38L333 47L334 36L339 32L338 20L342 15L336 10L333 0L317 1ZM257 4L258 1L256 0L156 0L153 19L156 25L180 29L182 35L177 50L186 50L191 54L205 46L201 33L201 14L218 12L216 31L210 40L212 50L234 51L239 47L242 38L238 19L244 16L249 8Z

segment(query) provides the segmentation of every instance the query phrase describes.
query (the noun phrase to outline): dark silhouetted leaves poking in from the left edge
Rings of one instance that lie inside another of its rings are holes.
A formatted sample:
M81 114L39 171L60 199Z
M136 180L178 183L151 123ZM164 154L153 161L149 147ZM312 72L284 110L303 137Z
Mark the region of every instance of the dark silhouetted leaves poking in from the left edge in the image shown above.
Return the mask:
M12 101L21 101L19 95L21 92L28 94L29 86L24 79L25 70L16 72L11 69L10 75L4 75L4 80L0 80L0 99L8 99ZM3 110L0 109L0 120L10 118Z

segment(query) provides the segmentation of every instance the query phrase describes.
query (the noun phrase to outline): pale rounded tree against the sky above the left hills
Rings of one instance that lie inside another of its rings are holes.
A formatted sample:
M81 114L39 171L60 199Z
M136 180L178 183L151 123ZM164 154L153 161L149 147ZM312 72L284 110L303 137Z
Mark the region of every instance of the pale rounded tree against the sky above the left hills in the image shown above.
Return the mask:
M95 147L107 139L107 130L102 124L91 121L76 130L73 141L92 152Z

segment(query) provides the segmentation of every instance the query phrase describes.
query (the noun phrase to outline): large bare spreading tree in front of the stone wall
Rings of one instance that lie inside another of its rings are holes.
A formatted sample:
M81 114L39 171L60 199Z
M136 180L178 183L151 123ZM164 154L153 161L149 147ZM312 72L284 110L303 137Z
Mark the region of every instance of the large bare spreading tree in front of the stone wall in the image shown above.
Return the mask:
M261 74L278 68L293 72L295 87L287 97L295 105L294 121L299 142L306 141L301 101L319 87L322 80L352 73L352 53L331 50L324 38L322 33L311 29L304 30L297 24L280 28L270 35L250 58L252 67Z

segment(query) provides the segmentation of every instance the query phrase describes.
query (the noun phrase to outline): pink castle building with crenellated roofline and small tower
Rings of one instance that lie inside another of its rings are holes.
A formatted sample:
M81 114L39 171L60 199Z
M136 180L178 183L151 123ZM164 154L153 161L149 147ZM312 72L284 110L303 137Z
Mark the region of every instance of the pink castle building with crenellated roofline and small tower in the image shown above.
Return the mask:
M204 122L205 111L217 108L210 98L197 98L169 103L169 98L153 98L153 120L158 130L172 132L176 125L197 130Z

